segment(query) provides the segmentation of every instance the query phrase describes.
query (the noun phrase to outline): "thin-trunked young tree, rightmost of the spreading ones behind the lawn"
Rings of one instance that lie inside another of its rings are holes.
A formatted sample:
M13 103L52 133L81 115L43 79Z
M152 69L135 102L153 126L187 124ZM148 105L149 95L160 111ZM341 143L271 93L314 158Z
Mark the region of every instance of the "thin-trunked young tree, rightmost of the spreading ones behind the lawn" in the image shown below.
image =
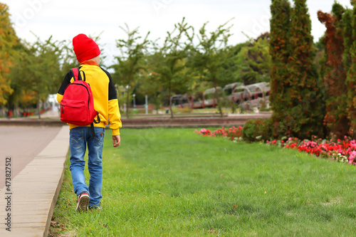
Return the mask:
M231 70L227 70L231 65L232 57L229 56L227 43L231 34L229 33L231 26L227 26L229 21L219 26L215 31L206 33L206 25L199 30L199 45L194 48L194 56L192 56L192 67L197 68L202 79L211 83L215 88L214 98L217 101L219 113L223 116L219 90L219 85L224 85L226 81L233 75Z

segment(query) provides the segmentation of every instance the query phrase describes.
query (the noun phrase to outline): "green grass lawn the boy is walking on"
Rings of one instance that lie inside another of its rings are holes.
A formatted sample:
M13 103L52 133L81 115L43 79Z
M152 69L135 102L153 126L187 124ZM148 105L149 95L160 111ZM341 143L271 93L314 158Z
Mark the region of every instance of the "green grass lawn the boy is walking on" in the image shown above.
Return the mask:
M193 131L107 131L103 210L75 212L67 169L51 236L355 236L355 167Z

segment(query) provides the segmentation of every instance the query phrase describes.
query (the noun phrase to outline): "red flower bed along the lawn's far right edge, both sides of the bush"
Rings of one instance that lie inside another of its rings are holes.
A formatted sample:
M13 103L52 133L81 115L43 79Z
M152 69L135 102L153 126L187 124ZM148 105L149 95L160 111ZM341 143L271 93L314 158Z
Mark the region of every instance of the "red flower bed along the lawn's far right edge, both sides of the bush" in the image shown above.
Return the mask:
M211 132L205 128L200 131L195 130L199 135L207 137L225 137L231 141L242 141L242 127L222 127L219 130ZM283 149L298 149L300 152L314 154L317 157L334 159L337 162L348 162L356 165L356 140L345 137L345 139L317 139L300 140L296 137L288 139L266 141L266 144L282 147Z

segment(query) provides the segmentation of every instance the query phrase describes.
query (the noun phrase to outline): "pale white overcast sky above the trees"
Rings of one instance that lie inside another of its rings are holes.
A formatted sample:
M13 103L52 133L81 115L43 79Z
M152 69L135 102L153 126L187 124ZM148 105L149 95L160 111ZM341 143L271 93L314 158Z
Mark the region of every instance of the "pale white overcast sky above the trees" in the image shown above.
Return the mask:
M314 41L323 36L325 26L318 21L317 11L330 12L335 0L307 0ZM244 43L269 31L271 0L0 0L9 6L11 22L17 36L26 41L36 41L36 36L45 41L50 36L56 41L68 40L78 33L100 35L100 45L107 60L114 63L117 39L127 35L120 26L125 23L130 30L138 28L144 38L163 40L174 24L185 21L196 33L204 23L207 30L214 31L229 21L230 45ZM290 0L292 3L292 1ZM351 9L350 0L338 0ZM293 3L292 3L293 5ZM35 36L36 35L36 36Z

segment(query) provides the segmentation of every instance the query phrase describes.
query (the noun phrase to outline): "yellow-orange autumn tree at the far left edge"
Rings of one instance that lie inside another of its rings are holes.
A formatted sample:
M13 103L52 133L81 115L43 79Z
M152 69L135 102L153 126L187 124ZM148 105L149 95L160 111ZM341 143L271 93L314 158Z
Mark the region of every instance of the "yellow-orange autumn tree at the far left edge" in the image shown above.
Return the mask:
M9 7L0 3L0 105L6 105L7 98L14 91L7 74L13 65L12 57L16 53L17 46L19 46L19 38L11 26Z

